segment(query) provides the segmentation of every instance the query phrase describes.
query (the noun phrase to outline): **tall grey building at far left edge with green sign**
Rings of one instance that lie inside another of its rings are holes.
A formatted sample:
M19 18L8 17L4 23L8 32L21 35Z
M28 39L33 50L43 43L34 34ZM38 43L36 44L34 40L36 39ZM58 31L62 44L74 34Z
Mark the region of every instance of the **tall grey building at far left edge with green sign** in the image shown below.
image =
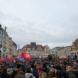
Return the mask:
M8 56L9 36L5 29L0 25L0 58L3 58L3 55Z

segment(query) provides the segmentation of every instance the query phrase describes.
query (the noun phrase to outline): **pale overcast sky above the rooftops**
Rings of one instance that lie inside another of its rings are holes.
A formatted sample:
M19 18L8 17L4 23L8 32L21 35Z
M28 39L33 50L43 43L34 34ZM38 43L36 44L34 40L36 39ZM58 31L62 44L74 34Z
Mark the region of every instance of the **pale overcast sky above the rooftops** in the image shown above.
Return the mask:
M0 23L21 47L70 46L78 38L78 0L0 0Z

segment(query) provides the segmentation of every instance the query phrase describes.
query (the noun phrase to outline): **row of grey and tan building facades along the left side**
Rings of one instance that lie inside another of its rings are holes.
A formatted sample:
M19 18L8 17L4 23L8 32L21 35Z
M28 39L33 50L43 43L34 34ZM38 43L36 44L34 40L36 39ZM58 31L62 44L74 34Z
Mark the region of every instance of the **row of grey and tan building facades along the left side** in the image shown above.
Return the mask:
M14 48L17 47L13 46L12 38L7 34L6 27L3 29L0 25L0 58L12 56Z

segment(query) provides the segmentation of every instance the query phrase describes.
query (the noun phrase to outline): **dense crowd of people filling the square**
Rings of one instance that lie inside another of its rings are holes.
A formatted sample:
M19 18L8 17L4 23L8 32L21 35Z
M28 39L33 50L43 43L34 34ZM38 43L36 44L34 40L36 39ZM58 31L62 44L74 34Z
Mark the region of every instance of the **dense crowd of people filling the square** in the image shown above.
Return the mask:
M33 58L0 62L0 78L78 78L78 60Z

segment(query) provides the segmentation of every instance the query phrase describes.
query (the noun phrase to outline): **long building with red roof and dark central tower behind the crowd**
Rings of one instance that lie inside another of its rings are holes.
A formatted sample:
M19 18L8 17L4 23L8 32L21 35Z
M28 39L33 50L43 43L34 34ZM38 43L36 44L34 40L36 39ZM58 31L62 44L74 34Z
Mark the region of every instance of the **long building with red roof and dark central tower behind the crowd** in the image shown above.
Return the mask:
M42 45L36 45L36 43L32 42L31 44L25 45L21 52L27 52L33 57L48 57L49 54L51 54L51 50L49 49L48 45L42 46Z

